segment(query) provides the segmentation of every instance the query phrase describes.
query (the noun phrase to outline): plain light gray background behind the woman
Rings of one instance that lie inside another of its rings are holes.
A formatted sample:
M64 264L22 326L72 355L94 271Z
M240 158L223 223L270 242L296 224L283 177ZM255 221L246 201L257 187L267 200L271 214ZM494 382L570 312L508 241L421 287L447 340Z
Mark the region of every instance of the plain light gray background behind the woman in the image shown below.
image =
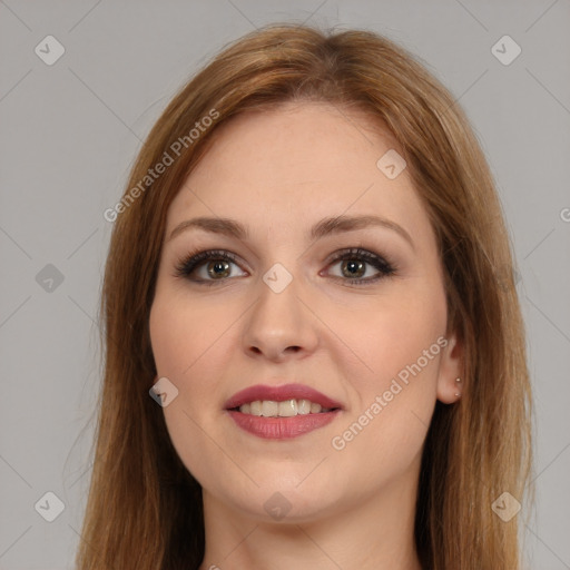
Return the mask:
M384 33L465 108L504 205L528 325L538 508L525 568L570 569L569 0L0 0L0 569L72 567L100 383L104 210L197 66L278 20ZM51 66L35 52L48 35L66 50ZM491 51L504 35L522 49L507 66ZM49 491L65 504L52 522L35 509Z

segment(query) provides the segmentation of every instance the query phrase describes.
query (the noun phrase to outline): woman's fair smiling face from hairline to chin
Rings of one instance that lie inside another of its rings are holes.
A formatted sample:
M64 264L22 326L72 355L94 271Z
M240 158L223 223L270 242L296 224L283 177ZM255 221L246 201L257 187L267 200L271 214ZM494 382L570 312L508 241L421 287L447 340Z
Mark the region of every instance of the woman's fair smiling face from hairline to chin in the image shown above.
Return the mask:
M371 124L324 104L243 115L169 208L150 336L206 504L289 521L412 504L460 348L426 210Z

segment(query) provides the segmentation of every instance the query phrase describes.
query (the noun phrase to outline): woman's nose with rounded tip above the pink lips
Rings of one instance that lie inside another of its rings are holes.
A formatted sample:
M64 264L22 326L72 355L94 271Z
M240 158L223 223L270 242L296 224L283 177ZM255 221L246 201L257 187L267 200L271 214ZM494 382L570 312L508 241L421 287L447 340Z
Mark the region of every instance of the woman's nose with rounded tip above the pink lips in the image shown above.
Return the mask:
M321 321L293 281L281 293L259 283L259 297L244 322L244 350L273 362L304 358L318 345Z

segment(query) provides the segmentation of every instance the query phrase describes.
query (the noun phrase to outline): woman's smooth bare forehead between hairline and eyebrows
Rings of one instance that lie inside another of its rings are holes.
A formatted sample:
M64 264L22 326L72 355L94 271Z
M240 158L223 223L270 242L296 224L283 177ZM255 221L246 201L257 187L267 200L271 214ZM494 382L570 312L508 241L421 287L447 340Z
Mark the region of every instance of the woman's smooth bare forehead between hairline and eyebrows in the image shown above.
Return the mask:
M390 179L377 166L397 151L394 138L361 110L284 104L237 116L214 136L170 205L167 232L190 216L238 218L263 229L342 214L379 214L411 233L429 230L406 169Z

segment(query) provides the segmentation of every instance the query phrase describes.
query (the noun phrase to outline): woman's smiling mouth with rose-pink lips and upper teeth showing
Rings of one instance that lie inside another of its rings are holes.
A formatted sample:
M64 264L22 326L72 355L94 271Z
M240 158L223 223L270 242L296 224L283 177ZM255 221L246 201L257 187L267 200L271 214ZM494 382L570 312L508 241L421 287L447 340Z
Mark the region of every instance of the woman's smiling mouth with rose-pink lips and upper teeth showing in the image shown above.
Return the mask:
M234 394L225 410L243 430L264 439L288 439L322 428L342 410L338 402L302 384L258 384Z

